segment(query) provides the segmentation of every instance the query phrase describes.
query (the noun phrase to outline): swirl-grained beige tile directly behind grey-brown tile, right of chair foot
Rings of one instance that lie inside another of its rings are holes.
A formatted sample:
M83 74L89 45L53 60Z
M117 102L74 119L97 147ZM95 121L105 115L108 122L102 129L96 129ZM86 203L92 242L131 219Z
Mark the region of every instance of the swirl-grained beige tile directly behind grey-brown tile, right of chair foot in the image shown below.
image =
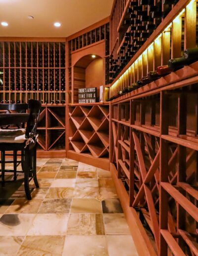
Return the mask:
M74 188L50 188L46 198L73 198Z

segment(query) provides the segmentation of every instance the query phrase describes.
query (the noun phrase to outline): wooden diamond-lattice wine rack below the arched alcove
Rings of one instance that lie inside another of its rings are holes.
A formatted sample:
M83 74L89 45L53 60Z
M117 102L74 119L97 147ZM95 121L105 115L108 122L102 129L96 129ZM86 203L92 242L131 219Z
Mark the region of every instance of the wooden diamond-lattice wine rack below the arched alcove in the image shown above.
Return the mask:
M109 106L69 106L69 151L75 151L108 162Z

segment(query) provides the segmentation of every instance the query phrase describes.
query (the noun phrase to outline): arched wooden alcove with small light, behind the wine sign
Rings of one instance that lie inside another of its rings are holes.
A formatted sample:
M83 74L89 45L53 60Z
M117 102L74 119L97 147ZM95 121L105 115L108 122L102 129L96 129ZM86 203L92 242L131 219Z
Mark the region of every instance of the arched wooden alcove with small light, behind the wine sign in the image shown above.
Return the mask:
M74 103L78 103L78 89L104 85L104 60L98 55L86 55L73 66Z

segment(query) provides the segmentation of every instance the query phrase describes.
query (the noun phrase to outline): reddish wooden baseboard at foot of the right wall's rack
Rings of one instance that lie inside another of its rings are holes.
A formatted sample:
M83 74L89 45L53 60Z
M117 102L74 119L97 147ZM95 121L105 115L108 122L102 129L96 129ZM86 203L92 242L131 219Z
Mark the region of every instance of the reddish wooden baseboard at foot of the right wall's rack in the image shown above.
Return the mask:
M147 236L136 210L129 206L129 195L126 192L121 180L117 178L117 170L112 163L110 163L110 172L138 254L141 256L156 256L156 252Z

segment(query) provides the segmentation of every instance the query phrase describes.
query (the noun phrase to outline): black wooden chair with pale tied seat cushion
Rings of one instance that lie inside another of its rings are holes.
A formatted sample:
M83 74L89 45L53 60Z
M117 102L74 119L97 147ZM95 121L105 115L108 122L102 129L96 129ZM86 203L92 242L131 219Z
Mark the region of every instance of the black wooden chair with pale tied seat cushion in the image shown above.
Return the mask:
M29 100L28 104L0 104L0 110L11 111L10 114L0 114L0 151L1 151L1 179L4 186L4 174L14 173L14 181L17 178L17 166L21 163L24 173L24 187L28 200L31 200L29 182L33 179L35 186L39 188L36 175L36 147L37 147L37 125L41 110L41 102ZM25 113L28 110L28 113ZM13 113L17 112L17 113ZM16 128L10 129L10 125ZM26 124L26 129L25 129ZM8 129L9 128L9 129ZM13 151L7 154L6 151ZM21 154L17 154L20 151ZM13 161L5 161L5 156L13 156ZM21 156L21 161L17 160ZM5 164L13 163L14 170L6 170Z

